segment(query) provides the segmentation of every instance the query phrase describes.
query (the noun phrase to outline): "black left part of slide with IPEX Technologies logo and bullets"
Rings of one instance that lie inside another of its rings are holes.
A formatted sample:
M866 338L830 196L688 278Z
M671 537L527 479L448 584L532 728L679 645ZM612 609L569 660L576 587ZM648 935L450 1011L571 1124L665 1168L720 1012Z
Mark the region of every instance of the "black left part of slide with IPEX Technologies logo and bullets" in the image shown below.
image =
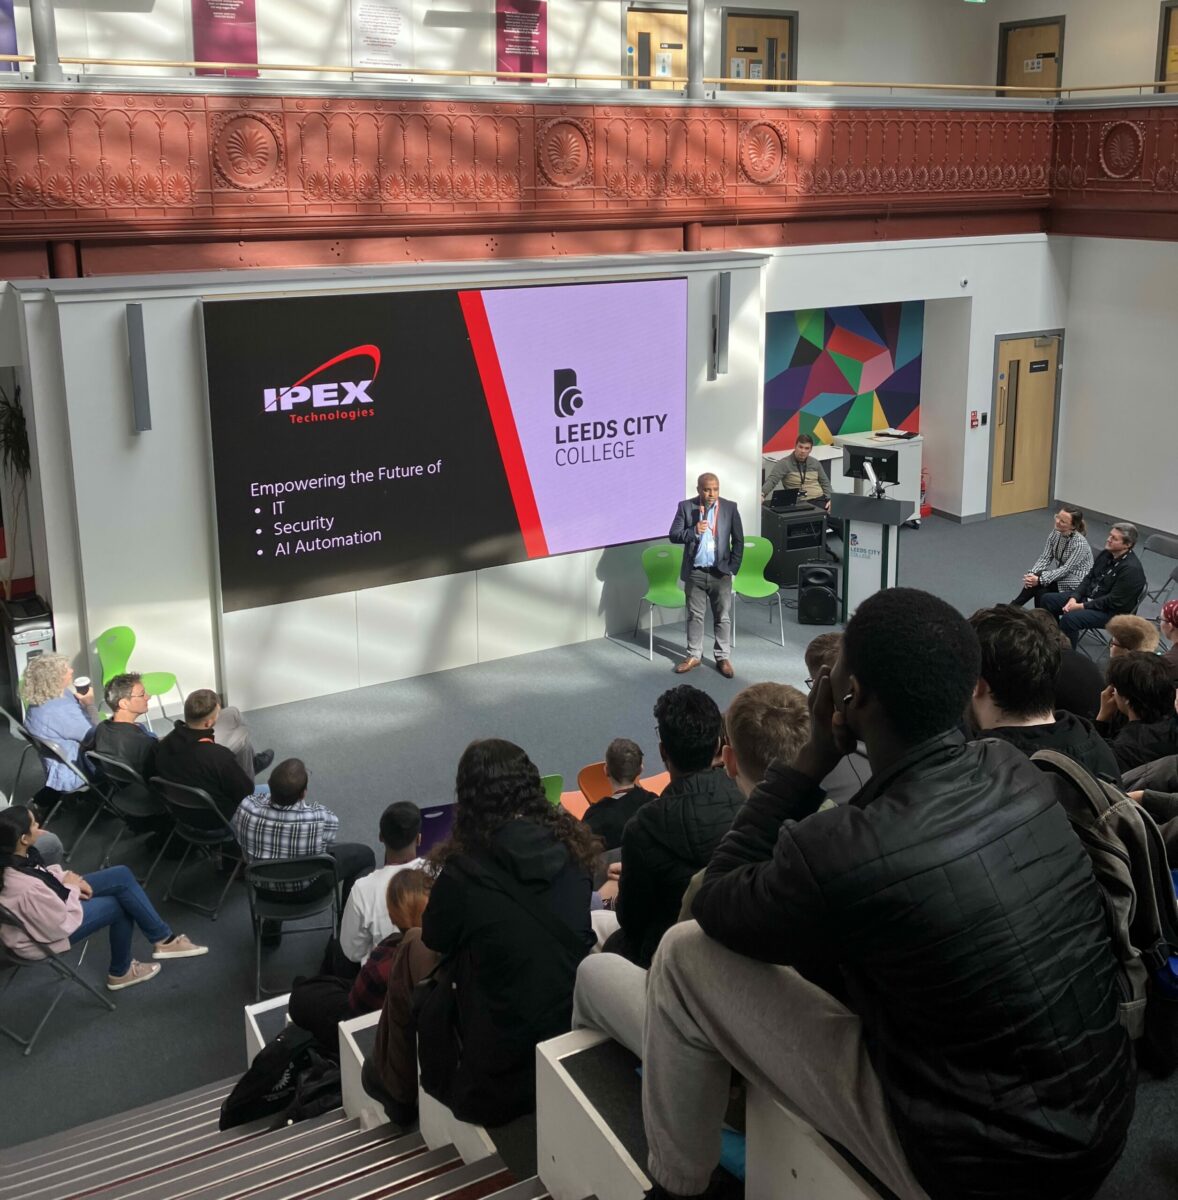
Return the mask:
M206 301L223 608L527 558L456 292Z

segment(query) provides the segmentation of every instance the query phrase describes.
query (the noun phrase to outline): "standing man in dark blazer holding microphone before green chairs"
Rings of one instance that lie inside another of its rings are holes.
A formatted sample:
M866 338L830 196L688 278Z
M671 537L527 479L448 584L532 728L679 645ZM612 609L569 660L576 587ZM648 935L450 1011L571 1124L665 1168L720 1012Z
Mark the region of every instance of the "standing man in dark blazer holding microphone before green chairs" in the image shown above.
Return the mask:
M703 656L703 611L711 605L715 626L716 668L733 676L728 659L732 637L732 577L740 570L745 532L734 500L720 499L720 480L701 475L699 494L683 500L668 536L684 547L680 578L687 593L687 656L675 667L678 674L699 666Z

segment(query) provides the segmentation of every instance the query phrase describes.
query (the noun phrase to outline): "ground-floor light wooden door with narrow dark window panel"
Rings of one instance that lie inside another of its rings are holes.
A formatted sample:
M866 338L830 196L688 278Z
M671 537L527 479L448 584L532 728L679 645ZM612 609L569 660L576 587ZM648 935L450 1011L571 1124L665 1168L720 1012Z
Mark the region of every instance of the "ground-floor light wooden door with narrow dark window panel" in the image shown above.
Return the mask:
M1004 338L992 407L994 434L990 515L1009 516L1051 503L1058 337Z

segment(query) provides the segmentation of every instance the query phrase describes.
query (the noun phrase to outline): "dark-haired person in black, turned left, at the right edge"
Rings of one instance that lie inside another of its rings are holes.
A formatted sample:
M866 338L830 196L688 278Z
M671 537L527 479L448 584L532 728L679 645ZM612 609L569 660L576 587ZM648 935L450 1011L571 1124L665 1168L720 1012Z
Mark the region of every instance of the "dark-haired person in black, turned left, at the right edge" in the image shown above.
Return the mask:
M1108 740L1122 772L1178 754L1174 684L1156 654L1118 654L1108 660L1096 730Z

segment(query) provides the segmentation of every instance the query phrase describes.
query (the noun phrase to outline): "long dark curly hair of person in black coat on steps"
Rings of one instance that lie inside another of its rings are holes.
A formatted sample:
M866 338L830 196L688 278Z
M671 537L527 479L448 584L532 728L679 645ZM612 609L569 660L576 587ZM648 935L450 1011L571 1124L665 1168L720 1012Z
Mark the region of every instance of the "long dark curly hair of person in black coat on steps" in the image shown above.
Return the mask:
M513 742L471 742L458 760L455 792L453 833L429 854L435 869L453 854L487 850L494 834L517 820L549 829L575 863L595 865L601 842L563 805L548 803L540 772Z

